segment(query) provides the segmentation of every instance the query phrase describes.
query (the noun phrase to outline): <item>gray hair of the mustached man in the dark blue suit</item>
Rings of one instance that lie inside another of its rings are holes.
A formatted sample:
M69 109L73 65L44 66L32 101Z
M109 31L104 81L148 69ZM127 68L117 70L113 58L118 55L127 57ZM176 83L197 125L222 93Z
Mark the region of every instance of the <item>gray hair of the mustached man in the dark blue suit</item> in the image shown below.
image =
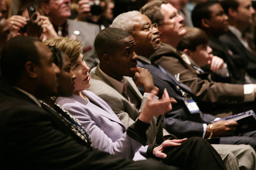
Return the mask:
M135 22L132 20L132 18L138 14L141 14L141 12L139 12L137 10L121 13L113 20L111 27L119 28L119 29L125 30L129 33L132 33L133 26L135 24Z

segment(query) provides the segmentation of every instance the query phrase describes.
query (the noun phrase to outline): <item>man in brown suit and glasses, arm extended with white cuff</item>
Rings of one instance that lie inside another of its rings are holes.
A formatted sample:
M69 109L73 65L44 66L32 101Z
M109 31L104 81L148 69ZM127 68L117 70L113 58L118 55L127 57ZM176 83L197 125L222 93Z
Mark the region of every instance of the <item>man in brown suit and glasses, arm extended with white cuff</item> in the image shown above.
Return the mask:
M161 49L151 54L150 60L161 65L176 76L175 79L188 86L203 113L240 113L255 106L255 84L214 82L210 76L202 74L191 64L186 55L175 49L186 34L186 30L182 24L183 18L170 3L165 0L154 0L145 4L141 11L152 20L152 23L158 23L161 42L168 44L163 44Z

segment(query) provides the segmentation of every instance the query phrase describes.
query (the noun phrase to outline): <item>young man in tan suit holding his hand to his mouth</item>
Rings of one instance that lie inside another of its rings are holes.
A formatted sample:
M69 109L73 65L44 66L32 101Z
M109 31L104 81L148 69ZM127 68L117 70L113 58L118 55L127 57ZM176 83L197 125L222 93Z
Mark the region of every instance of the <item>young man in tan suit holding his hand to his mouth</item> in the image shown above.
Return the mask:
M136 67L138 56L134 52L134 44L133 40L123 45L125 50L122 52L108 54L109 52L102 51L101 45L95 43L95 47L98 48L96 48L96 53L100 64L91 70L91 86L88 88L108 103L126 128L137 119L142 103L143 96L136 84L143 86L145 92L150 92L154 88L154 82L149 71L145 68ZM131 78L134 75L136 84ZM161 117L155 117L147 130L148 142L151 144L164 141L160 120Z

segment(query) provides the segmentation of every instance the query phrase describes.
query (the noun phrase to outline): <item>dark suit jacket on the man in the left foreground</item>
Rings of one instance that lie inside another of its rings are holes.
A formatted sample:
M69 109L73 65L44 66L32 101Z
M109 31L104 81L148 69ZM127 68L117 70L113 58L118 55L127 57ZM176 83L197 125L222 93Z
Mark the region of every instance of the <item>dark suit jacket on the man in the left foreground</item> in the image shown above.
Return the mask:
M132 161L92 149L58 113L0 82L0 165L8 170L114 170Z

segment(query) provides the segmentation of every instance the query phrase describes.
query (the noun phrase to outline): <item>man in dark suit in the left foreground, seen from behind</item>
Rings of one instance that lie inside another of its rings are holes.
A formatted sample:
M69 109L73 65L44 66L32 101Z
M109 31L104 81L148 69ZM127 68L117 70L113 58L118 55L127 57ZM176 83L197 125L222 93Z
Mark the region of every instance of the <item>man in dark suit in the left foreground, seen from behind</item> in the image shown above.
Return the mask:
M38 102L57 91L59 67L50 49L28 37L6 42L0 57L1 168L34 170L167 170L160 162L133 162L91 147L86 130ZM83 133L81 132L83 131Z

